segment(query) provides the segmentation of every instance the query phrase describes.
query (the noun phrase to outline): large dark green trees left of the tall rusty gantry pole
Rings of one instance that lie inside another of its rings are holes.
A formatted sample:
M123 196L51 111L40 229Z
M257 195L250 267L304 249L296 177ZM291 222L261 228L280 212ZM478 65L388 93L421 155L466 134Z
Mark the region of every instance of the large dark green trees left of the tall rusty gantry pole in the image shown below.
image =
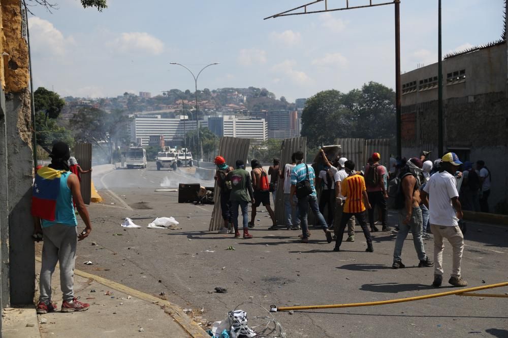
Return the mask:
M375 82L346 94L319 92L302 113L301 135L309 147L334 144L336 138L393 138L395 132L395 93Z

